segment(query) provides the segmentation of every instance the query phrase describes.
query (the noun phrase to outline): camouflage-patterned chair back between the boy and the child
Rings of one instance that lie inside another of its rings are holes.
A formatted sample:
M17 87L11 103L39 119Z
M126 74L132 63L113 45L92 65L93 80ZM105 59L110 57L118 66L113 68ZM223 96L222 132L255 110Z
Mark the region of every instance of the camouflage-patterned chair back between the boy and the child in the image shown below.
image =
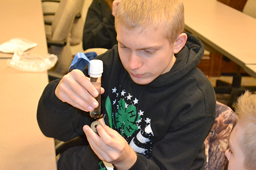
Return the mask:
M228 137L237 122L237 114L228 106L217 102L215 123L204 141L205 169L225 169L228 162L225 156L229 147Z

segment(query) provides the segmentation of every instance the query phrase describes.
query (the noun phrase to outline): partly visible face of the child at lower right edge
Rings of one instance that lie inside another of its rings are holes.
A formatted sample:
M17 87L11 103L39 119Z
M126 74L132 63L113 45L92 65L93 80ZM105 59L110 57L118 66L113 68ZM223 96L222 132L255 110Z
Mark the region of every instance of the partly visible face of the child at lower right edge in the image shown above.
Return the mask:
M234 127L230 138L229 138L229 147L225 152L225 155L229 161L228 170L243 170L244 168L244 153L242 152L240 145L238 143L239 135L239 124Z

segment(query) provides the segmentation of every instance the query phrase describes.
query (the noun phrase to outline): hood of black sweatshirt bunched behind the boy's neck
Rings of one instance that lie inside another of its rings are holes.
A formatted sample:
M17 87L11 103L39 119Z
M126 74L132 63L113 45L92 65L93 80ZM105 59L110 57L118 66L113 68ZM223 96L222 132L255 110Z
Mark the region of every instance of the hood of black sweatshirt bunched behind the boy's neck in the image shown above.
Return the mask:
M204 45L195 36L187 34L187 42L182 50L175 55L176 62L169 72L160 75L148 87L161 87L178 81L195 69L204 55Z

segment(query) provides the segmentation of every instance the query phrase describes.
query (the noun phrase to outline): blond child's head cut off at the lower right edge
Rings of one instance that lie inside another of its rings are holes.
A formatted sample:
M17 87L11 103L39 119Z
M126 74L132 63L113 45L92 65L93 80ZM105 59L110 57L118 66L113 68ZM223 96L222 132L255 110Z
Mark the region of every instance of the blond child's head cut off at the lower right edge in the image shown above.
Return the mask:
M228 169L256 169L256 94L246 91L236 106L239 121L230 138L230 150L225 154Z

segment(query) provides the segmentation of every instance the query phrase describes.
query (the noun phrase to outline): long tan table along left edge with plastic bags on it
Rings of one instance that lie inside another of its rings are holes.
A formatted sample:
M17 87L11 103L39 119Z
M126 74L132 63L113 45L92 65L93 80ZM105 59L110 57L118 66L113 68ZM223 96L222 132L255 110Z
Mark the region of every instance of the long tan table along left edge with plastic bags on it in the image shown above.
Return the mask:
M31 53L47 55L40 0L0 0L0 16L0 44L26 38L38 43ZM41 133L36 120L47 71L20 71L6 62L0 58L0 169L56 169L54 140Z

